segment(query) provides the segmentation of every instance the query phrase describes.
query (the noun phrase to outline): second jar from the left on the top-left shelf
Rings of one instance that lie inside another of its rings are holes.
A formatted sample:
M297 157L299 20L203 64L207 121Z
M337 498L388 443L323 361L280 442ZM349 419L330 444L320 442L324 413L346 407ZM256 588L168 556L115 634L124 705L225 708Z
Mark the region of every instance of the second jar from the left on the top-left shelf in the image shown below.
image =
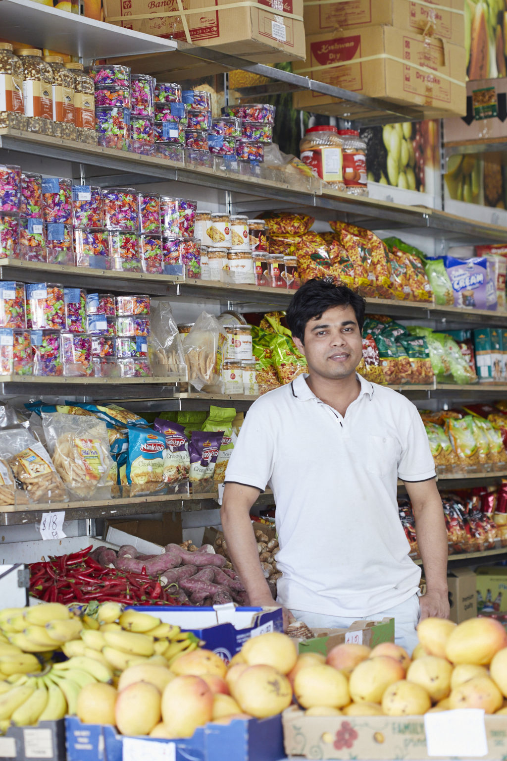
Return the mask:
M17 48L14 53L23 64L23 103L28 129L52 135L52 68L43 61L41 50Z

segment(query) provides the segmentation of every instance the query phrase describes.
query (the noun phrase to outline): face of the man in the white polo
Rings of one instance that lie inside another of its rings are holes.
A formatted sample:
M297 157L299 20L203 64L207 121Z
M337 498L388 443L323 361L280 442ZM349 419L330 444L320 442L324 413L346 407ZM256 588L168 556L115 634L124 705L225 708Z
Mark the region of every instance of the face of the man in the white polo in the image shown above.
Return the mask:
M363 341L352 307L331 307L321 317L309 320L305 343L295 338L309 370L323 378L348 377L363 356Z

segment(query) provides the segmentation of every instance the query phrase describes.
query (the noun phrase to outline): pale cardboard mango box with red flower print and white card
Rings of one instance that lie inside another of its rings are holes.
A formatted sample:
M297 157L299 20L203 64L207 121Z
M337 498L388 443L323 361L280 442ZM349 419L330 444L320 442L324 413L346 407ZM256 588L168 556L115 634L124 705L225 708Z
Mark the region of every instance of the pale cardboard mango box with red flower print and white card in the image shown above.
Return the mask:
M507 756L507 716L485 716L482 711L464 708L426 714L426 718L444 721L444 730L442 725L440 729L430 724L426 727L424 716L306 716L291 706L282 716L285 753L357 761L493 761ZM455 721L459 721L459 729L455 729ZM429 748L430 743L436 744ZM437 745L447 752L439 753Z

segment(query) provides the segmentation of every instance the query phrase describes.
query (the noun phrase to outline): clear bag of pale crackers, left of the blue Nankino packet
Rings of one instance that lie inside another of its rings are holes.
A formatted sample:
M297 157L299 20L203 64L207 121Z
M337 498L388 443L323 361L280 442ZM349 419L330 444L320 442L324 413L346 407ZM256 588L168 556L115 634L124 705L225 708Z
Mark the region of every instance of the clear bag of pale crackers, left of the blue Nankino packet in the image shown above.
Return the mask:
M93 499L98 487L106 486L112 467L106 423L60 412L43 412L42 419L60 478L75 498Z

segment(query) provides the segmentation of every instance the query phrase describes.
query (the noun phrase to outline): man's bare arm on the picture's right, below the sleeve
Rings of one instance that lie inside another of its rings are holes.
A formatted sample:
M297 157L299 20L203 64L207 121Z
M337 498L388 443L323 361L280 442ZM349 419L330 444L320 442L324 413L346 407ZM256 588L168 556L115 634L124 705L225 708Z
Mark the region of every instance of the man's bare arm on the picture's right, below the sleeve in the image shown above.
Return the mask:
M447 530L436 481L404 484L414 511L417 544L426 578L426 594L420 597L421 619L448 618Z

